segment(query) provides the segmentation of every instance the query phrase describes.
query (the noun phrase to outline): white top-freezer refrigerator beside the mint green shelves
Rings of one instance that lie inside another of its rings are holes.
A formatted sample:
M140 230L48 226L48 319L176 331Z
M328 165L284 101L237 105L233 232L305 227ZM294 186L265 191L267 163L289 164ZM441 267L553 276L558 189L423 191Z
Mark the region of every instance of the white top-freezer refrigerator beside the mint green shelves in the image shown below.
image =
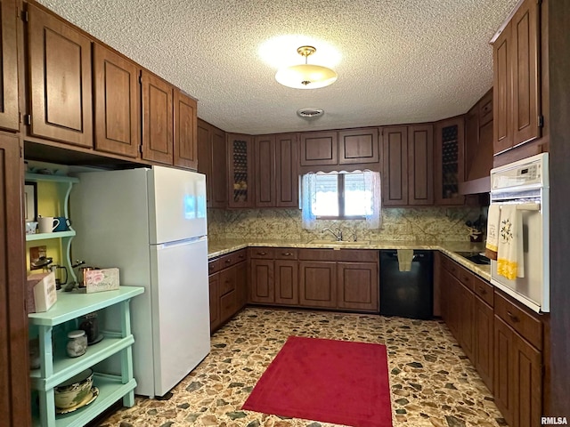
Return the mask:
M153 166L78 178L73 258L144 286L131 302L135 393L163 396L210 350L206 177Z

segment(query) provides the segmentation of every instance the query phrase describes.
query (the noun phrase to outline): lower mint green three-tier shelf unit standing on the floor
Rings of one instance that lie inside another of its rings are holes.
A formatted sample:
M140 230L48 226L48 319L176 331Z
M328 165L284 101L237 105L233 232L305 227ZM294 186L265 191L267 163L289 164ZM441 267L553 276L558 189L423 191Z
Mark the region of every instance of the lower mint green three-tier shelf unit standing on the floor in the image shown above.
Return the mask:
M41 427L83 427L119 399L123 405L134 405L133 377L134 337L131 333L130 300L142 294L140 286L119 286L118 290L97 294L66 293L59 291L57 302L44 313L30 313L30 325L39 330L40 367L30 373L32 389L39 396L39 415L34 425ZM87 347L83 356L69 358L61 351L53 351L53 327L74 320L96 310L118 304L120 331L102 331L103 340ZM94 373L94 386L99 396L90 405L69 414L56 415L53 388L102 360L119 354L121 374Z

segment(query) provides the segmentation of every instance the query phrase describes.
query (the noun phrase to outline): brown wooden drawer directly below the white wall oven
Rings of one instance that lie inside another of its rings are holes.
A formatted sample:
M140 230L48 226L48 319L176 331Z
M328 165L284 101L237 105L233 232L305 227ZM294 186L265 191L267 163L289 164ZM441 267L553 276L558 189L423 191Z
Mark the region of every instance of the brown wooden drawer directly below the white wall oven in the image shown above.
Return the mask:
M495 315L515 329L526 341L542 350L542 321L497 290L494 293Z

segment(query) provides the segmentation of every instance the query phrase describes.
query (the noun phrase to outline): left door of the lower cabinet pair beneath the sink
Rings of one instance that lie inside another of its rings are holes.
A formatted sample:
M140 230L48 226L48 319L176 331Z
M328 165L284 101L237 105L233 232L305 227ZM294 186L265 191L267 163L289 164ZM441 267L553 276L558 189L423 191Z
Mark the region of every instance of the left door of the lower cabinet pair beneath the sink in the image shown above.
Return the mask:
M336 263L301 261L299 270L299 305L336 308Z

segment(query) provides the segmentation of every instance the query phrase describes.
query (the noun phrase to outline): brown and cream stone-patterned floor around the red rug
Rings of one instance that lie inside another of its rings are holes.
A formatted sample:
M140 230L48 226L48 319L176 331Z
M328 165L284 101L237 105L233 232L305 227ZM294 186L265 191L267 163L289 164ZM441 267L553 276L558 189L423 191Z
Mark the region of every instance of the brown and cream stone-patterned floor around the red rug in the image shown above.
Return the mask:
M493 396L437 320L247 308L212 336L212 350L169 400L136 398L102 427L330 427L242 411L289 335L387 345L394 427L505 426Z

